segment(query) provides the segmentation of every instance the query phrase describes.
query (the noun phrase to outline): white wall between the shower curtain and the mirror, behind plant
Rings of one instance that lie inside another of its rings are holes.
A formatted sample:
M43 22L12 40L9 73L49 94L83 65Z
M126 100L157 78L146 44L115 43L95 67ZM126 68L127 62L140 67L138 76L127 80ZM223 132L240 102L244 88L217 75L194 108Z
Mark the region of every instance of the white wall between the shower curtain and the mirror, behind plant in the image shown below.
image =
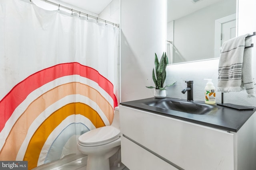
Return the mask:
M152 97L154 53L166 49L166 0L121 0L121 102Z

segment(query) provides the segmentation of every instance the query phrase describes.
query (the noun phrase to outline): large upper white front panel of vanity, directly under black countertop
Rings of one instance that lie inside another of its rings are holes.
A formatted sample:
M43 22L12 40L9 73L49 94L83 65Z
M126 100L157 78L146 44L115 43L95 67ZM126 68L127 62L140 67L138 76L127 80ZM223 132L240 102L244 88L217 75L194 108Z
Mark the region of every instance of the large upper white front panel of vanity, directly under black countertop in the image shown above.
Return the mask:
M234 170L233 134L226 131L125 106L120 106L120 128L183 169Z

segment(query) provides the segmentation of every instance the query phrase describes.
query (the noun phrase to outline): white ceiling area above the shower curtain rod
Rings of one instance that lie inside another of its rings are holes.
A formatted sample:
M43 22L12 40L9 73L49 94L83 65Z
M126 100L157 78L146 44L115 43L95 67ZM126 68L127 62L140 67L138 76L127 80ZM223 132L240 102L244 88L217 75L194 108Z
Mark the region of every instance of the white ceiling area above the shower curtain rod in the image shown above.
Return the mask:
M77 6L86 11L100 14L112 0L60 0L62 2Z

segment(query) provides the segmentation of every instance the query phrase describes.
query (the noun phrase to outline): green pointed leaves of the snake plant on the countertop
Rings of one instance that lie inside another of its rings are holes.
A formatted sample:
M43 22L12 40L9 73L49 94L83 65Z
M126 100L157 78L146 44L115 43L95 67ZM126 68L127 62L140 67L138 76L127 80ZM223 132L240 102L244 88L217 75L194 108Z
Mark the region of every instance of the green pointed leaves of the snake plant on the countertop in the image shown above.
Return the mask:
M155 88L155 89L160 89L160 90L166 90L166 87L168 86L172 86L173 84L175 84L176 82L172 83L172 84L168 84L166 86L164 86L164 82L166 79L166 66L168 64L168 59L166 56L166 53L163 53L160 62L158 62L158 58L157 55L155 53L155 70L156 70L156 74L153 68L153 72L152 72L152 78L153 81L155 83L155 87L153 86L146 86L147 88Z

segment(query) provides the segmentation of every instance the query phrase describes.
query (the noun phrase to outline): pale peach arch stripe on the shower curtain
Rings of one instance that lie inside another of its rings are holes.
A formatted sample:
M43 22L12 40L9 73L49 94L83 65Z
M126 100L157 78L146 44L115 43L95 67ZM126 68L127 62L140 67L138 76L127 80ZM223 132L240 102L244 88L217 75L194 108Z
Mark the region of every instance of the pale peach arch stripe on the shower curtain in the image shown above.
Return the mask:
M28 106L24 113L22 113L12 127L4 146L0 151L0 160L16 160L16 156L27 135L28 129L36 117L38 117L38 115L40 115L50 105L65 96L72 94L80 94L90 98L90 100L94 101L98 107L100 107L110 123L112 123L112 119L114 117L113 108L97 90L79 82L62 84L42 94Z

